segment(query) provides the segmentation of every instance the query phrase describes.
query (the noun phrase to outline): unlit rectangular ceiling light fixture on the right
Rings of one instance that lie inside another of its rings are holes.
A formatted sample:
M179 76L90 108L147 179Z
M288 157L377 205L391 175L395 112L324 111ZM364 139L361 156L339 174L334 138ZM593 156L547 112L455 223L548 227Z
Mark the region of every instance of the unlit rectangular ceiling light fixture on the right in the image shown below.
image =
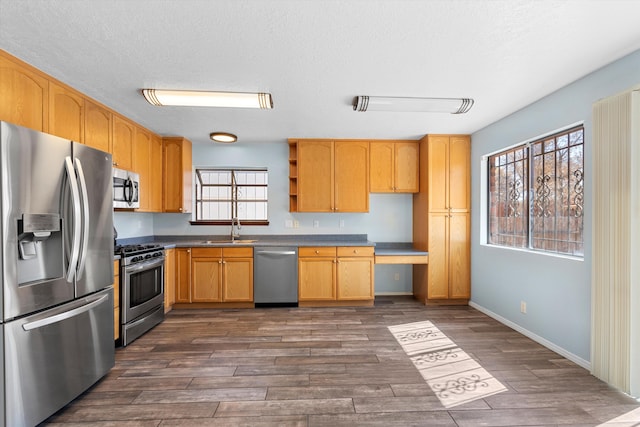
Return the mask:
M354 111L407 111L463 114L471 109L470 98L394 98L388 96L356 96Z

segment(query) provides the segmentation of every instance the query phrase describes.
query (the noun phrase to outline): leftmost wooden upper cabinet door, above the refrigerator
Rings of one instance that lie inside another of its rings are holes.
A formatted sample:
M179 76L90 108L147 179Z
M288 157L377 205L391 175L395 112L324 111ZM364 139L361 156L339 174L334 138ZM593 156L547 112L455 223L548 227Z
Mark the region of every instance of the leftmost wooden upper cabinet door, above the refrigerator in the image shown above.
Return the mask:
M49 81L0 51L0 120L48 132Z

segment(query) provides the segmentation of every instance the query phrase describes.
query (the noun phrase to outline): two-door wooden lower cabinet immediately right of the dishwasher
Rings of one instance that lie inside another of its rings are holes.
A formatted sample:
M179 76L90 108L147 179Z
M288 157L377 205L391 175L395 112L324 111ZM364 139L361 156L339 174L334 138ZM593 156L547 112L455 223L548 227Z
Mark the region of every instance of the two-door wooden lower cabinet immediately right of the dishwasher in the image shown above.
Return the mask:
M373 303L373 247L308 247L298 250L298 300L331 305Z

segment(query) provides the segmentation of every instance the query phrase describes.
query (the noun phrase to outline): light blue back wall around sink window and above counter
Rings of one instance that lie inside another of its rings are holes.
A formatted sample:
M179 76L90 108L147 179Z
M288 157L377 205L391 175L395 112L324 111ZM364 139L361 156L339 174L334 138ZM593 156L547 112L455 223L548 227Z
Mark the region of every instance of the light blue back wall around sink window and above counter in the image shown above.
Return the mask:
M367 234L374 242L412 240L411 194L371 194L369 213L315 214L289 212L289 147L286 141L260 144L193 145L193 166L267 167L269 170L269 226L242 226L241 235ZM226 235L228 226L192 226L190 214L114 214L119 237L153 235ZM288 220L298 228L287 228ZM314 228L314 221L318 227ZM344 221L344 227L340 227ZM395 274L400 276L395 280ZM411 293L411 268L376 267L376 293Z

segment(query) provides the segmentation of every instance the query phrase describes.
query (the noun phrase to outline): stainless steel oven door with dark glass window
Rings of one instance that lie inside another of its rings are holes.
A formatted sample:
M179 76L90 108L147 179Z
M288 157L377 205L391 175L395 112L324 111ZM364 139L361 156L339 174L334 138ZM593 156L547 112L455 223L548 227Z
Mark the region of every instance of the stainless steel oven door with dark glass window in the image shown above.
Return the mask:
M164 304L164 257L122 269L122 323L129 323Z

